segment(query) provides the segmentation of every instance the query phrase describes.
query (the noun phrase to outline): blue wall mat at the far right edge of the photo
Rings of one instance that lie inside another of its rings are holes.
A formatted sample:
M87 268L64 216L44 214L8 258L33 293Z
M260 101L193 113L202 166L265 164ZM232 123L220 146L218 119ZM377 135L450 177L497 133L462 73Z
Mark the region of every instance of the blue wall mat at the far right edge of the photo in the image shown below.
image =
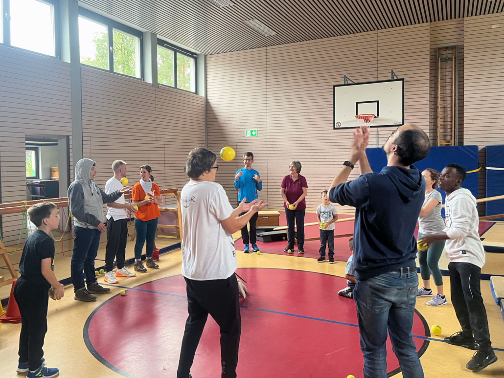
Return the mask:
M504 146L486 147L486 166L490 168L504 168ZM504 194L504 170L486 170L486 197ZM504 214L504 200L486 203L486 215ZM498 218L493 220L504 220Z

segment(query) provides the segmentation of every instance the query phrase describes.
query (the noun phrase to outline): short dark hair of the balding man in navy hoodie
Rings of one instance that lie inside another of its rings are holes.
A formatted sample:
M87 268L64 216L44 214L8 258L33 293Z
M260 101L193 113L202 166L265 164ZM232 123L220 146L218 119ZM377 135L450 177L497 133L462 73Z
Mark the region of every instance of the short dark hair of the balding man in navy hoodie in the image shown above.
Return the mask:
M419 127L412 124L413 130L403 130L396 138L399 163L408 166L424 159L430 151L429 137Z

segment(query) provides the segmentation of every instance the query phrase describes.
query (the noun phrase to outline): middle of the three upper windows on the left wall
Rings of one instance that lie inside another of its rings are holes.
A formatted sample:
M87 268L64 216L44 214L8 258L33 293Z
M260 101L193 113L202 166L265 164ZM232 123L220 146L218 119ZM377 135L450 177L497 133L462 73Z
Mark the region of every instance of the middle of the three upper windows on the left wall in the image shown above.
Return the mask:
M79 8L81 63L142 79L142 32Z

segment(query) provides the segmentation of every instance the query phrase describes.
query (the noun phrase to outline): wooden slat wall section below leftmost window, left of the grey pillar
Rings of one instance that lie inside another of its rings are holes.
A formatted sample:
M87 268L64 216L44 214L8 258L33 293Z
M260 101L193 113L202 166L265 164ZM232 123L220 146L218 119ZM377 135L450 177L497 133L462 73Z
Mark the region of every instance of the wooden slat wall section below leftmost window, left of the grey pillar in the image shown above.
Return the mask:
M72 134L70 65L0 46L0 104L2 201L26 200L25 135ZM17 243L21 219L2 217L7 245Z

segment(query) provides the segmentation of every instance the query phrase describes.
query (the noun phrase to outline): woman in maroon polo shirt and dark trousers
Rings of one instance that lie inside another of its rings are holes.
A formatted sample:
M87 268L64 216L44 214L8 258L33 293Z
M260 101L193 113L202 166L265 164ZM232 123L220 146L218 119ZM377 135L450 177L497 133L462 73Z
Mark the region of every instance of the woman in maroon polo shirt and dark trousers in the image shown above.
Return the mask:
M287 235L289 244L285 247L294 250L294 219L297 225L297 251L304 254L304 213L306 212L306 201L304 198L308 194L308 184L306 178L301 176L301 163L294 160L289 164L290 174L282 180L281 193L284 200L285 217L287 218ZM292 210L289 209L289 206Z

